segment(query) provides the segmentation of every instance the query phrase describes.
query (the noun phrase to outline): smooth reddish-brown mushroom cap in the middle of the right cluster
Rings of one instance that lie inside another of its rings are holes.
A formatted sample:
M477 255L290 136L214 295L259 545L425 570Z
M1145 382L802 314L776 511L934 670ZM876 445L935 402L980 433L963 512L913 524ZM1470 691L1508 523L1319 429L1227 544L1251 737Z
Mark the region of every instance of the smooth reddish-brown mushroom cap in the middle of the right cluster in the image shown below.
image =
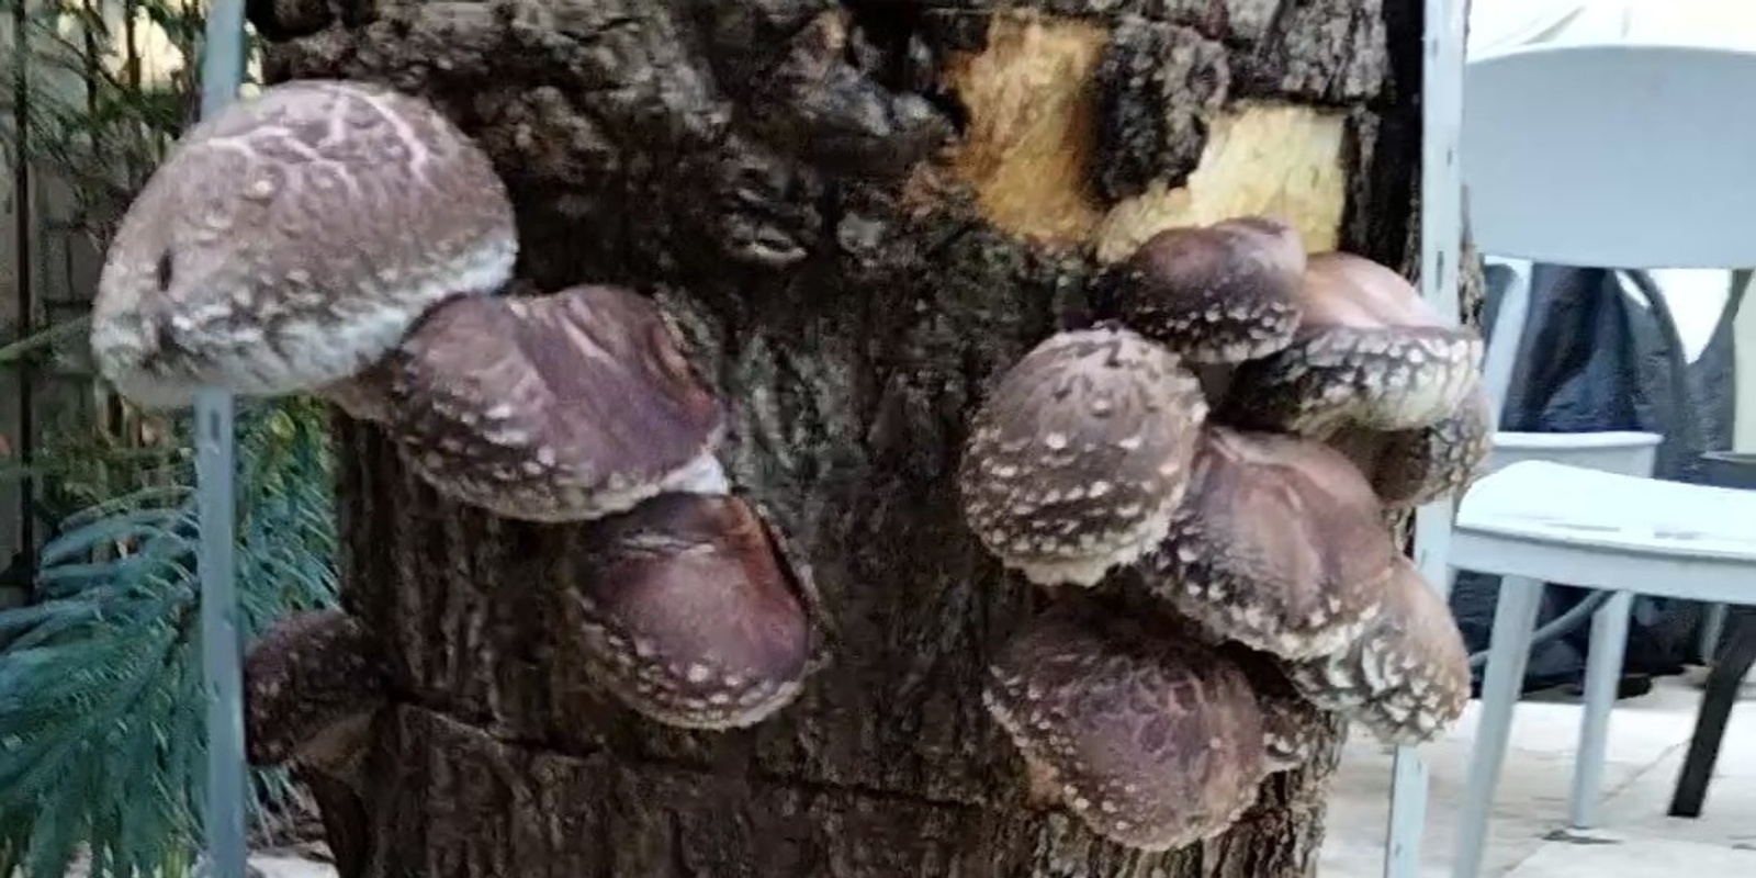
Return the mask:
M1147 588L1219 637L1287 658L1342 648L1400 558L1371 485L1310 439L1208 425Z

